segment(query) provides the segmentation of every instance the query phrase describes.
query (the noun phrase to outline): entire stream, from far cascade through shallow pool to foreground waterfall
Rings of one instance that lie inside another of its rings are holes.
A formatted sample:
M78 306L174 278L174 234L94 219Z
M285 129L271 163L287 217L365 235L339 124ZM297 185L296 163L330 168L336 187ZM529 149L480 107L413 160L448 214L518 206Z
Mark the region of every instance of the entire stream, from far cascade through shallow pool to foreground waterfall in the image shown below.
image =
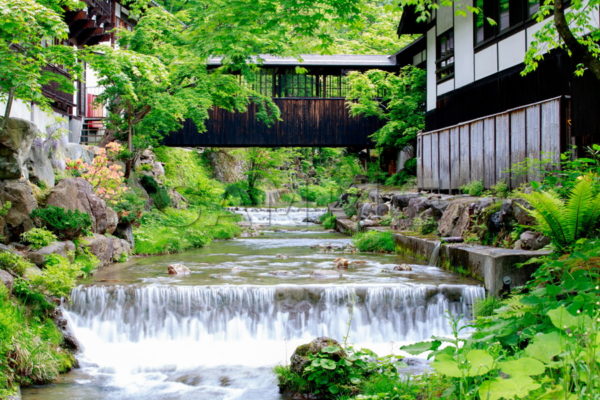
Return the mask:
M297 345L347 337L398 353L449 335L447 312L468 318L484 295L476 282L415 260L340 253L351 240L303 222L306 210L236 212L272 225L255 238L134 258L75 288L64 312L82 345L81 367L23 398L275 400L272 368ZM359 263L323 272L337 257ZM168 276L171 263L191 275ZM412 271L394 271L399 263Z

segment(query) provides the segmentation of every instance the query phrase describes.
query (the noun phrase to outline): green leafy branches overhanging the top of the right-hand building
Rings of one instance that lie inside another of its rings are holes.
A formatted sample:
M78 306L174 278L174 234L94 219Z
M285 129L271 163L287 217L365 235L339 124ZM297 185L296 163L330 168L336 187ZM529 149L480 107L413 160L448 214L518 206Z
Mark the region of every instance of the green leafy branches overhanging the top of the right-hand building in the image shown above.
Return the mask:
M440 6L452 6L454 3L458 14L483 12L480 8L458 4L454 0L400 0L402 7L415 7L419 21L427 21L432 11ZM551 18L534 34L525 56L523 73L534 71L547 51L563 48L577 63L578 75L587 68L600 80L600 30L594 26L599 8L600 0L571 1L568 4L565 0L544 0L535 18L538 22ZM487 21L494 25L497 23L489 18Z

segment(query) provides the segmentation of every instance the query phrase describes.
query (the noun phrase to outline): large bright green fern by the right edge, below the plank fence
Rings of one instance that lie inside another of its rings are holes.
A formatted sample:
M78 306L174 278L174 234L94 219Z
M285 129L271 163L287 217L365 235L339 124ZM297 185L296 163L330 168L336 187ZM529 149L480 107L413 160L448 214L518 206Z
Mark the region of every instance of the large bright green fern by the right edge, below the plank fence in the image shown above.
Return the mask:
M578 239L596 234L600 219L600 194L595 193L591 174L579 179L565 201L552 191L520 193L533 209L534 229L549 237L559 251L568 250Z

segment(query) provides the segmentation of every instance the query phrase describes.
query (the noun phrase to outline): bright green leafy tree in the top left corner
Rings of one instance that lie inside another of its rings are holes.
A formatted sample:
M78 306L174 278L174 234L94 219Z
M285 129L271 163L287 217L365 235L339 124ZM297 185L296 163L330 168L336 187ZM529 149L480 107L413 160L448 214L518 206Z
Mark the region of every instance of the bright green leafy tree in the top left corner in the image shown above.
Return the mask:
M0 2L0 101L6 102L3 131L14 99L35 102L43 109L50 100L42 87L58 84L72 92L69 78L46 69L58 65L72 76L79 70L76 49L61 43L68 38L69 27L63 21L65 9L76 10L76 0L2 0Z

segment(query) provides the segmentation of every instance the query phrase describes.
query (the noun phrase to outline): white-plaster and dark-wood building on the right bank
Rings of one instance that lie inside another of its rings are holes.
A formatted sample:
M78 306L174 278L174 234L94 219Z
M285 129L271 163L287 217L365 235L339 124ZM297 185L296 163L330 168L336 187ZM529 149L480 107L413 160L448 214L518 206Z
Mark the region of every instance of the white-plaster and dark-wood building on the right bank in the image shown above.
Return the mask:
M407 8L398 27L399 34L422 34L425 42L419 187L452 191L471 181L516 187L534 176L511 173L513 165L527 158L558 161L571 145L600 142L600 84L591 73L575 77L573 60L553 51L535 72L521 75L533 34L546 22L533 19L539 1L465 1L457 4L484 12L459 15L455 4L419 23ZM599 10L590 13L600 27ZM497 25L486 23L488 17Z

